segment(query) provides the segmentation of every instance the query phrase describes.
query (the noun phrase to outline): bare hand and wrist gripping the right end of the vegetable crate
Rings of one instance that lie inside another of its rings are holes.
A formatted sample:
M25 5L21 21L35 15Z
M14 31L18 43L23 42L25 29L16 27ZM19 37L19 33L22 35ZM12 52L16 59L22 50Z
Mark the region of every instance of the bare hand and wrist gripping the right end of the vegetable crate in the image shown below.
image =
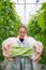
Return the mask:
M32 57L33 60L37 60L40 58L40 56L42 55L42 48L41 48L41 44L34 44L34 48L36 51L36 54Z

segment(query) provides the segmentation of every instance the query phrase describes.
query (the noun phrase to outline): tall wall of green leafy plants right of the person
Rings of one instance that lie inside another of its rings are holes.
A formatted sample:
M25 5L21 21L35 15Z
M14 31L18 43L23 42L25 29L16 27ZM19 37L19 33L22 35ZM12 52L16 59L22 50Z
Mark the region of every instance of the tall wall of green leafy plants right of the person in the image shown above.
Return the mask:
M36 15L30 16L28 36L32 36L43 43L44 51L40 62L46 65L46 2L36 11Z

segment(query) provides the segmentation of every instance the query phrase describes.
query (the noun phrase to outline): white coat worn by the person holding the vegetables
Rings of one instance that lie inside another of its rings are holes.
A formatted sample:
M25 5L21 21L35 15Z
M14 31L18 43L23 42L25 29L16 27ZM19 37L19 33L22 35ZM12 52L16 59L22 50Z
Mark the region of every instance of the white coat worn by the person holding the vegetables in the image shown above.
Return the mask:
M24 42L20 42L19 37L17 38L9 38L2 42L2 50L5 43L10 43L11 45L16 46L28 46L32 47L36 43L36 41L32 37L25 37ZM4 70L33 70L32 60L30 58L19 58L16 57L14 61L9 61Z

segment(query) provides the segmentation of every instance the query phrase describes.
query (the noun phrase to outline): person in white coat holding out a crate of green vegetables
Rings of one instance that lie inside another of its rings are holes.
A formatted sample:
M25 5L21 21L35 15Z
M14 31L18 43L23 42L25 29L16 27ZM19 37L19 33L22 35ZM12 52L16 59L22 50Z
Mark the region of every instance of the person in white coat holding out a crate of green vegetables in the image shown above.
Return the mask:
M7 56L7 48L10 48L11 45L29 46L33 50L35 48L36 54L30 58L10 58ZM9 60L4 70L33 70L32 60L37 60L42 54L41 47L37 46L36 41L32 37L27 37L27 28L24 25L19 27L17 38L9 38L2 43L2 50L3 56Z

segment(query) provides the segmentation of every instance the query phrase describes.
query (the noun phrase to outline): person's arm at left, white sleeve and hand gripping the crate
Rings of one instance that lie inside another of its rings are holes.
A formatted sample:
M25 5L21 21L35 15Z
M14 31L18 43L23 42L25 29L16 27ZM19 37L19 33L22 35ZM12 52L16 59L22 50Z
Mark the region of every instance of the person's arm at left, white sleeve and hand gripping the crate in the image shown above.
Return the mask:
M10 50L10 47L11 47L11 41L10 41L10 39L4 40L4 41L2 42L2 54L3 54L3 56L4 56L7 60L12 61L13 58L10 58L9 55L7 55L7 50Z

